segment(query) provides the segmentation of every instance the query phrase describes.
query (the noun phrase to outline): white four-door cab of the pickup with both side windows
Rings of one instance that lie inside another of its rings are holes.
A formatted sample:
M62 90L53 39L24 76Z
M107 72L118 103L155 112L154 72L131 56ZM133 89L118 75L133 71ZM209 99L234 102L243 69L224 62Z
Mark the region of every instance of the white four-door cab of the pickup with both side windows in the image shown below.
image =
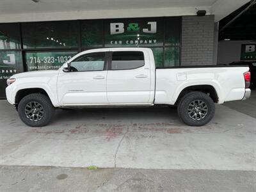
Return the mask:
M156 68L148 51L98 49L78 54L59 72L60 105L153 104Z

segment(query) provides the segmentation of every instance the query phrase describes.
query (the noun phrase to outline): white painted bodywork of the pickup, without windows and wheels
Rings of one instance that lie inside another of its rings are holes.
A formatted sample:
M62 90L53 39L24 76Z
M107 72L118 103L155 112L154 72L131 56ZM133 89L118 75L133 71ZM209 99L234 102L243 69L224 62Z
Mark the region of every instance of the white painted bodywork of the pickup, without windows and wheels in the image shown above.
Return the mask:
M218 103L241 100L245 94L243 73L248 67L155 67L148 48L106 48L81 52L71 58L92 52L142 51L145 65L131 70L63 72L47 70L15 74L16 81L6 88L6 97L15 104L17 92L42 88L54 107L170 104L188 86L210 85L216 90Z

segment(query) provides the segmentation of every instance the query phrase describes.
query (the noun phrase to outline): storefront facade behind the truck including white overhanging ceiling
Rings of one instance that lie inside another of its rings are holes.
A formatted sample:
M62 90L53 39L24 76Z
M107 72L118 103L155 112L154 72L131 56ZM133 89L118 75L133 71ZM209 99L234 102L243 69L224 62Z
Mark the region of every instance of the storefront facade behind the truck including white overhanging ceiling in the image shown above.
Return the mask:
M0 98L13 74L57 70L78 52L100 47L149 47L157 68L216 65L218 21L246 2L0 2Z

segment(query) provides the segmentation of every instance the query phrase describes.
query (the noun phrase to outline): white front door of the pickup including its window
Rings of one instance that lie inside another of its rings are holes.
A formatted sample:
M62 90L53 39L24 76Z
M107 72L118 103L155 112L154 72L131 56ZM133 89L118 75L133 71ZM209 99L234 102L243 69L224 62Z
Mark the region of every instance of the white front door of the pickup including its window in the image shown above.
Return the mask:
M61 105L108 104L106 52L83 54L70 62L70 71L60 71L58 99Z

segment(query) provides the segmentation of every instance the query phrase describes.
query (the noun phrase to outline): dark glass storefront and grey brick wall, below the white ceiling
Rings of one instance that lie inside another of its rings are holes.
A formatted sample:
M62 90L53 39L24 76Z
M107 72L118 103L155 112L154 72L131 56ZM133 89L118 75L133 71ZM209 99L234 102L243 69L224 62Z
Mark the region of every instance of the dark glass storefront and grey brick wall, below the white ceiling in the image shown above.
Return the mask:
M58 69L100 47L149 47L158 68L214 65L214 16L2 23L0 97L12 74Z

